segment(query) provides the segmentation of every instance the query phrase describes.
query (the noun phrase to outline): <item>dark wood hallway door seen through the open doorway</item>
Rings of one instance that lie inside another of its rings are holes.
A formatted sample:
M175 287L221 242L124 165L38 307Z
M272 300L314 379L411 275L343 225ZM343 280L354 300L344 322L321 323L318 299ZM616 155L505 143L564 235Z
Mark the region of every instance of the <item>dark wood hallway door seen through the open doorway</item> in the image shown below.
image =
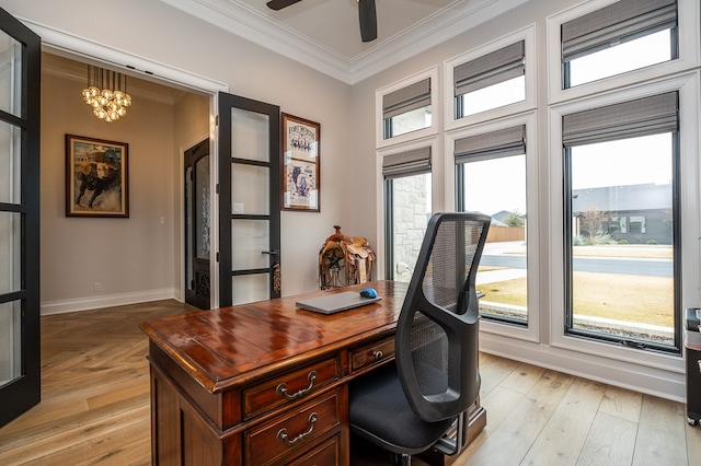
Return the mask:
M185 302L210 308L209 139L185 151Z

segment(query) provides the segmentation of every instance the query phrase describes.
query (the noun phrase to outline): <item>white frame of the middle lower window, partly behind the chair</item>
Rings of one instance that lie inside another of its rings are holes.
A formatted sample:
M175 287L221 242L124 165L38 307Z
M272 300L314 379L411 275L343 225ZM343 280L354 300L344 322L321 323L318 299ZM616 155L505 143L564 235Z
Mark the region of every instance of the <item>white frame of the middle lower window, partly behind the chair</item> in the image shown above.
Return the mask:
M529 217L527 238L528 244L528 325L516 326L498 322L480 321L480 331L495 335L503 335L520 340L540 341L540 305L539 305L539 282L540 282L540 226L538 219L538 127L536 112L527 112L513 115L494 121L473 125L469 128L460 128L458 130L446 132L445 136L445 191L443 196L446 199L446 208L449 211L456 210L456 160L455 160L455 142L456 140L468 138L471 136L483 135L486 132L497 131L499 129L513 128L515 126L526 126L526 214Z

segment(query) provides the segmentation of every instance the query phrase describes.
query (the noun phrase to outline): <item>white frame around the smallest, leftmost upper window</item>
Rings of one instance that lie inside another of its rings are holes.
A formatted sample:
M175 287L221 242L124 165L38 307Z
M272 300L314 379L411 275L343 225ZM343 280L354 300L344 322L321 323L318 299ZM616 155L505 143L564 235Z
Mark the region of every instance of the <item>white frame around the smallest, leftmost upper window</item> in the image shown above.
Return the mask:
M417 82L430 79L430 126L416 131L406 132L404 135L395 136L393 138L384 139L384 116L382 113L382 97L400 89L404 89ZM389 84L384 88L375 91L375 124L376 124L376 148L387 148L394 144L401 144L415 139L425 138L427 136L436 135L438 132L437 116L440 110L440 103L438 101L438 67L432 67L427 70L421 71L401 81Z

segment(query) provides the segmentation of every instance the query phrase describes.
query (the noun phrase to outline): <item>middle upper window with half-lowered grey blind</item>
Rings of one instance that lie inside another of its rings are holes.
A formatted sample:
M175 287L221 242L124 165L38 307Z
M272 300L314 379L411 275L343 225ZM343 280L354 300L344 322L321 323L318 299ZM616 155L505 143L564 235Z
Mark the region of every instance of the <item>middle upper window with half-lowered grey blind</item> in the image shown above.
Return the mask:
M525 72L524 40L455 67L455 118L526 100Z

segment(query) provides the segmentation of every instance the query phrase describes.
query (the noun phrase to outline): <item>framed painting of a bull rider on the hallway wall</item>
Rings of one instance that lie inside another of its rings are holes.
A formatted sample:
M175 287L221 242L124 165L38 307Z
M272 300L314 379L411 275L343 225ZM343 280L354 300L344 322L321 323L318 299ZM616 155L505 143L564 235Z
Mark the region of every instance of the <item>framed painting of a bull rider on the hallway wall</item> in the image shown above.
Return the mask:
M66 217L129 217L129 144L66 135Z

